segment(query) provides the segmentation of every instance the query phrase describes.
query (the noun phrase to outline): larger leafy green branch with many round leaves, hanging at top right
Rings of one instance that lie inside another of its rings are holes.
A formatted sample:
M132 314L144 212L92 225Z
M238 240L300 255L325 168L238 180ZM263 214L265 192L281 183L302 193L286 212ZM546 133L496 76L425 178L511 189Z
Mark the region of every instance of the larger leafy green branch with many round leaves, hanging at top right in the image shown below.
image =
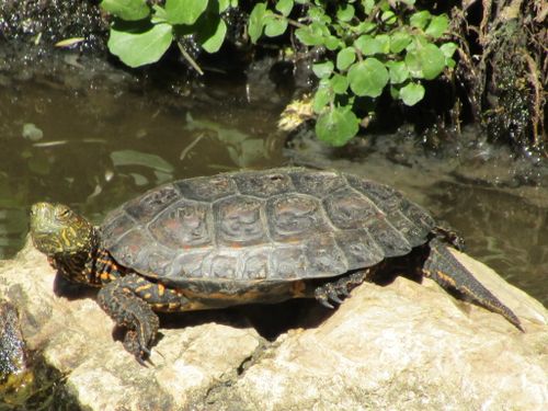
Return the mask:
M312 67L319 79L312 100L316 133L342 146L365 123L356 115L359 107L369 107L367 115L374 113L385 89L406 105L420 102L423 82L455 66L452 56L457 45L443 42L447 15L416 10L414 0L347 0L336 2L334 10L332 5L279 0L271 10L267 2L258 3L250 15L249 35L256 43L262 35L275 37L292 25L301 44L327 50L323 61ZM289 19L296 7L306 12L297 22Z

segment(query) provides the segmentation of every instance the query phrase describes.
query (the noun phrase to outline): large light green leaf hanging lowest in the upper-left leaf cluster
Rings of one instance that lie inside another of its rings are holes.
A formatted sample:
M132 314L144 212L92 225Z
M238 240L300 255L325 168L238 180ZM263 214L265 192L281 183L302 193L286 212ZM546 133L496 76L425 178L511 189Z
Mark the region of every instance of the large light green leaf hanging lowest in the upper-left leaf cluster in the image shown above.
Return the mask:
M163 56L173 39L172 26L160 23L146 32L132 33L111 27L109 49L129 67L156 62Z

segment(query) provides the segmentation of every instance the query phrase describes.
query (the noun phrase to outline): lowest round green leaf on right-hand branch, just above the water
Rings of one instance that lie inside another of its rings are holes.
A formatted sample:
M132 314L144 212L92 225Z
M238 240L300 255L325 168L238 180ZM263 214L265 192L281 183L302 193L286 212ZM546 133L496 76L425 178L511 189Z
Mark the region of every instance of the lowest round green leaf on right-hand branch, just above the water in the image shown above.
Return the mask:
M352 106L335 107L322 113L316 122L316 134L331 146L344 146L359 129L359 121Z

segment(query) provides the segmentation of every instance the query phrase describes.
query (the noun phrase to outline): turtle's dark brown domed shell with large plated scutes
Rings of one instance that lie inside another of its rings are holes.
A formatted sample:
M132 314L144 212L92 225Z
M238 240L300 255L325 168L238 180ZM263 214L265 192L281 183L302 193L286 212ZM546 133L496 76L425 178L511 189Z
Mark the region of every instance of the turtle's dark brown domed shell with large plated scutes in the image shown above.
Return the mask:
M141 275L218 288L372 266L425 243L433 226L423 208L389 186L286 168L159 186L111 213L101 237L118 263Z

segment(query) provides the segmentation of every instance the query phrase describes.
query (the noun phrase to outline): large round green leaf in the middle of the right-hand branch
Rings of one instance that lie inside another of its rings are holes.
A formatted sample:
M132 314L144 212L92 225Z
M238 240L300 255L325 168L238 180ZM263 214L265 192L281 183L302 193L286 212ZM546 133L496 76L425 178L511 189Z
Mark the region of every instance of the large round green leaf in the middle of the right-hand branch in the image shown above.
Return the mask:
M388 83L388 71L376 58L356 62L349 70L350 88L356 95L376 98Z

